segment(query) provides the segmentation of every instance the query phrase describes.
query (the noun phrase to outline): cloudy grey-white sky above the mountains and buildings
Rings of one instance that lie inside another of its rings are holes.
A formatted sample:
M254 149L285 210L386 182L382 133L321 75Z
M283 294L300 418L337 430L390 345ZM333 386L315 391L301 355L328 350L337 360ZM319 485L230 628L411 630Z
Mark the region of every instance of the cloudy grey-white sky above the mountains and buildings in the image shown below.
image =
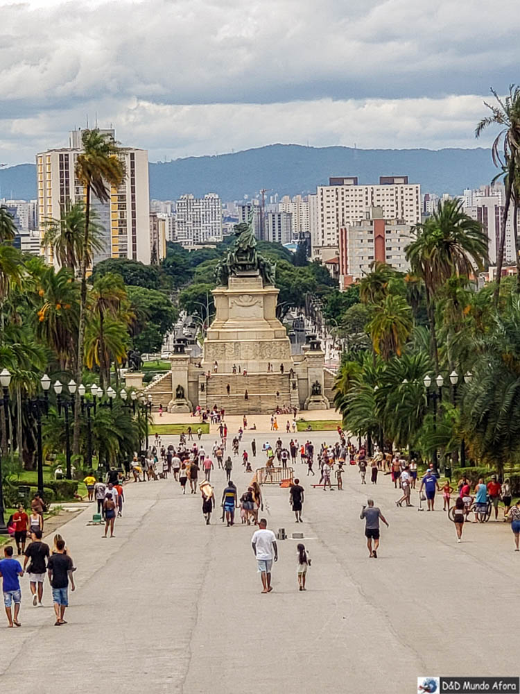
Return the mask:
M520 81L518 19L519 0L0 0L0 163L96 114L152 161L486 145L489 87Z

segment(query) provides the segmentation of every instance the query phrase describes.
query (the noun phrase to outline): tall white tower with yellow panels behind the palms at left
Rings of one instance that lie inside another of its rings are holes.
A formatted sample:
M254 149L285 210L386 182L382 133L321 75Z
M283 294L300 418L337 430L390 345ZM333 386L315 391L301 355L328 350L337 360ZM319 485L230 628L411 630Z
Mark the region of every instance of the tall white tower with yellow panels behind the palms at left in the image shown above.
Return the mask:
M100 130L115 138L114 130ZM69 146L50 149L36 155L38 187L38 223L40 239L46 222L60 219L65 205L84 201L85 190L76 178L74 168L82 151L82 130L73 130ZM110 190L110 201L92 198L96 223L101 229L101 251L96 251L93 264L109 257L130 258L150 264L150 208L148 187L148 152L122 147L120 157L126 175L119 187ZM53 249L43 248L46 262L56 262Z

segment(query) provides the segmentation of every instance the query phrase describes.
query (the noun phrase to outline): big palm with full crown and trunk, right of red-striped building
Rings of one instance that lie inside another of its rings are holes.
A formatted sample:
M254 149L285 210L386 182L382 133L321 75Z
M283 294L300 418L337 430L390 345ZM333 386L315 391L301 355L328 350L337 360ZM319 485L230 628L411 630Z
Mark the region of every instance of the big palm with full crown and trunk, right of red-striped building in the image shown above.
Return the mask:
M439 370L435 295L452 275L469 277L487 262L488 239L480 222L462 210L462 201L447 200L424 223L415 227L416 238L406 246L412 271L426 289L426 310L431 328L431 357Z

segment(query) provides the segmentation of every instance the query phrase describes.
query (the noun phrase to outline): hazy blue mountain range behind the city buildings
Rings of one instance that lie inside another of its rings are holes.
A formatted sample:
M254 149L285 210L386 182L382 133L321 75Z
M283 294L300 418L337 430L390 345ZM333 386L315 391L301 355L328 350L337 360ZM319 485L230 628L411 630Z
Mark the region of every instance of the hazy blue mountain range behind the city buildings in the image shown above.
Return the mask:
M489 183L496 174L489 150L353 149L272 144L215 156L150 163L150 197L175 200L184 193L218 193L224 201L256 196L261 188L280 195L315 192L329 176L408 176L422 192L462 194ZM36 197L34 164L0 169L0 198Z

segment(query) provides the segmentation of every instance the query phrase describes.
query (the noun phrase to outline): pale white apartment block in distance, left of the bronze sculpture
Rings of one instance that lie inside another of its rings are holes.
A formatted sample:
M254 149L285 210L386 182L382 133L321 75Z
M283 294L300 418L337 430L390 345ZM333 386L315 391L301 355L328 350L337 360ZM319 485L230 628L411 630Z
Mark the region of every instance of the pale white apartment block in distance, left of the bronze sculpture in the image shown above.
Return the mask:
M222 238L222 203L218 195L180 196L175 203L175 241L185 248L193 248Z

